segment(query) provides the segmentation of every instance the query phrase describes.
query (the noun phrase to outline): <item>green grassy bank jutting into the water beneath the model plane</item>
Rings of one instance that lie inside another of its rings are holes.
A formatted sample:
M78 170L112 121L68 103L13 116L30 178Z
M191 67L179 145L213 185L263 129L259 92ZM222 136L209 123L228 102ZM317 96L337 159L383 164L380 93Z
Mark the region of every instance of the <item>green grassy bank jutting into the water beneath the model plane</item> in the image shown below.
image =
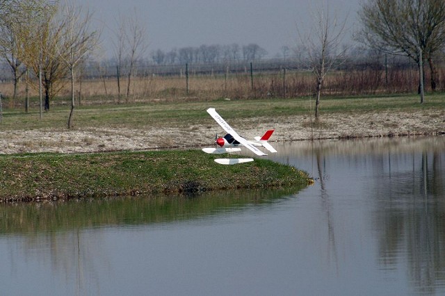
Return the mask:
M312 181L293 167L258 159L224 166L198 150L0 156L0 201L297 186Z

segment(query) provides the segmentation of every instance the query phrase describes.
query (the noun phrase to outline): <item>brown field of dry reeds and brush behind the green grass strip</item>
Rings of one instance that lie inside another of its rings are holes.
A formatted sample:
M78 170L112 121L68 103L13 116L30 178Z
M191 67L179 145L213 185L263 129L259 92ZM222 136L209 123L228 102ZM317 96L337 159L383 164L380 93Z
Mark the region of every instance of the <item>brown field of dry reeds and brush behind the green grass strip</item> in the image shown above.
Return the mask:
M374 94L415 93L417 76L415 69L366 69L337 71L329 73L323 83L323 95L328 96L363 96ZM426 74L428 81L428 72ZM252 88L253 85L253 88ZM76 97L81 97L83 104L122 103L139 101L158 101L172 99L213 100L213 99L260 99L277 97L307 97L315 92L314 76L304 71L283 71L232 74L191 74L188 88L184 74L176 76L136 76L131 80L130 95L127 97L127 79L121 79L121 95L118 95L118 83L115 78L82 79L76 81ZM437 90L445 90L445 72L439 71ZM428 91L428 83L426 83ZM13 96L11 82L0 83L3 97ZM19 83L15 102L8 106L20 106L26 95L24 83ZM38 91L30 88L30 96L37 97ZM57 99L70 96L70 83L65 81ZM54 99L56 102L57 99Z

